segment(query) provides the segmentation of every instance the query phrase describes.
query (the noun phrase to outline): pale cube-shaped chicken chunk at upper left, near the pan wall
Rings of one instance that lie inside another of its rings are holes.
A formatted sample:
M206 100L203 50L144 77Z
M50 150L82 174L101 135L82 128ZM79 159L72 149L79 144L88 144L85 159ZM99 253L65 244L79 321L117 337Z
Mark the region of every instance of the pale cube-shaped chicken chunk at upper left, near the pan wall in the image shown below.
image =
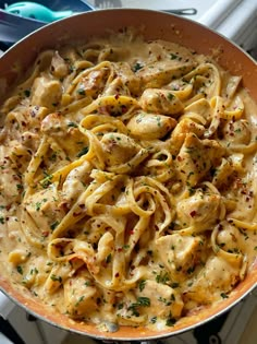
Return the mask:
M32 87L32 105L45 106L54 110L61 100L62 84L60 81L51 80L48 76L38 76L35 79Z

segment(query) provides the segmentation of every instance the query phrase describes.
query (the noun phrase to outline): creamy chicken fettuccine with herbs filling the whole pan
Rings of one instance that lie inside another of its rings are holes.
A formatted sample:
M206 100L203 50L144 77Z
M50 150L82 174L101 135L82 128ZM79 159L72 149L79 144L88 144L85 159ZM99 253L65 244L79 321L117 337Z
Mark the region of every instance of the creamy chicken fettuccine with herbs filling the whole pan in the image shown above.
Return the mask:
M257 107L211 57L91 38L40 52L0 111L1 270L32 297L158 330L253 268Z

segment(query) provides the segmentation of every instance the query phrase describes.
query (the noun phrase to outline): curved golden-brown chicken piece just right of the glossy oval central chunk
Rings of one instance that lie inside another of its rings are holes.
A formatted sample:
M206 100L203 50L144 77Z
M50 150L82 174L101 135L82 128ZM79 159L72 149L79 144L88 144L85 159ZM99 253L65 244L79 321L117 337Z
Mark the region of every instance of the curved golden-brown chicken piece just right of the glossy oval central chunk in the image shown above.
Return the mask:
M195 133L198 138L201 138L205 132L205 127L196 123L189 118L183 118L174 128L171 134L172 145L179 152L187 133Z

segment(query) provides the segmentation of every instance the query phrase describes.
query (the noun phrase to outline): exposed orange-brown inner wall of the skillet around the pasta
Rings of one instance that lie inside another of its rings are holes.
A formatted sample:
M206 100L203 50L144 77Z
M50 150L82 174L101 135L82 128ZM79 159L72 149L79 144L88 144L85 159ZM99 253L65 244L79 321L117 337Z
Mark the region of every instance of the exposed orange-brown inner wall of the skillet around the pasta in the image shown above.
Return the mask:
M79 43L91 35L102 35L107 29L140 27L142 24L146 39L161 38L193 48L198 54L215 54L221 67L232 74L243 76L243 85L257 102L257 64L235 45L193 21L156 11L127 9L96 11L69 17L45 26L13 46L0 60L0 98L4 98L10 86L22 79L38 51L71 41ZM0 276L0 288L28 311L54 325L98 339L131 341L170 336L208 321L241 300L256 286L256 281L257 272L253 270L228 299L201 309L158 333L145 328L128 327L123 327L115 333L103 333L95 325L74 322L65 316L53 313L52 309L32 299L26 289L12 285L3 275Z

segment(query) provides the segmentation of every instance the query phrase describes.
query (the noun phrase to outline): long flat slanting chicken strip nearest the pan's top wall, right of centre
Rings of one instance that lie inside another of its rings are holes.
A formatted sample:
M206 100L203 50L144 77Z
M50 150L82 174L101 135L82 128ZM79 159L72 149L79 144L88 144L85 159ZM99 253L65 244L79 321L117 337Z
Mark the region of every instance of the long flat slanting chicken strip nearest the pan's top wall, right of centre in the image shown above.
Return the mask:
M193 62L183 62L179 60L164 60L147 64L136 72L142 80L144 88L162 87L170 83L172 79L179 79L194 68Z

